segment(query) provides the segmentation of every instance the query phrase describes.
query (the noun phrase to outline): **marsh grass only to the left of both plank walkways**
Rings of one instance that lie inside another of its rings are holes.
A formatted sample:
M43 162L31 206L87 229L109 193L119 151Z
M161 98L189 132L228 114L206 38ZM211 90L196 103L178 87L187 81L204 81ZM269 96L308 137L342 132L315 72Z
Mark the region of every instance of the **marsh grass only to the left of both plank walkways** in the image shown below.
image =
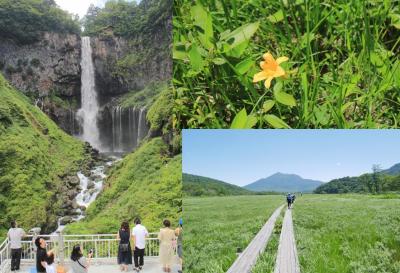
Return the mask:
M277 195L184 198L185 272L226 272L281 204Z

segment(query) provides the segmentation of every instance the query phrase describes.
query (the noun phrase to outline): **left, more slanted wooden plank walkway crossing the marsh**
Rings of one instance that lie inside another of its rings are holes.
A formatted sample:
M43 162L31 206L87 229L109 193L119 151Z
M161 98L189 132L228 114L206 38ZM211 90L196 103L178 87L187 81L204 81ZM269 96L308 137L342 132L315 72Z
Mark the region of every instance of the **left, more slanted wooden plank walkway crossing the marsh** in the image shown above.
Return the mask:
M232 266L228 269L227 273L250 273L252 267L257 262L258 256L264 252L268 243L269 237L274 230L276 218L278 218L283 205L277 208L261 230L257 233L254 239L246 247L246 249L239 255Z

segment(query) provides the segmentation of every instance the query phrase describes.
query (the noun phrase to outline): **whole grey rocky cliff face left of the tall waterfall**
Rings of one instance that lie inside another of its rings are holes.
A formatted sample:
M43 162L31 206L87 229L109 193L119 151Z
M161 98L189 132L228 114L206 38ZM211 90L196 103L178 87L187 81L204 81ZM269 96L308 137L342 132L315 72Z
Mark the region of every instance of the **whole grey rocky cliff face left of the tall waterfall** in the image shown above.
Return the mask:
M76 132L74 111L81 86L81 40L77 35L45 32L33 44L0 42L0 70L14 87L34 98L62 129Z

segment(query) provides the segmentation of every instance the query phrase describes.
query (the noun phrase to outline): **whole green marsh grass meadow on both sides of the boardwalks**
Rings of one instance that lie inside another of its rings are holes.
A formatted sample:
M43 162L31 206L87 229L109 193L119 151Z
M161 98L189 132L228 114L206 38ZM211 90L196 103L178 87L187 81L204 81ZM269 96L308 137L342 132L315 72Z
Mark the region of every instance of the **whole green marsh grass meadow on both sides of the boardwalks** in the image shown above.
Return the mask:
M185 198L185 272L223 273L283 196ZM301 272L400 272L399 195L298 197L293 223ZM254 267L273 272L283 213Z

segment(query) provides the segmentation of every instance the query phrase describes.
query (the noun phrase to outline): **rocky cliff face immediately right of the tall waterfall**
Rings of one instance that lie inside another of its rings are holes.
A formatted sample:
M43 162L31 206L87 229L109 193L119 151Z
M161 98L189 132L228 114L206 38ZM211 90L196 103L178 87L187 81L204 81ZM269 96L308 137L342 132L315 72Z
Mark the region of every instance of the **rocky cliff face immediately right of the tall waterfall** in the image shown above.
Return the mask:
M143 89L154 81L172 77L172 21L151 32L126 40L112 30L92 38L96 86L102 97ZM104 99L107 100L107 99Z

